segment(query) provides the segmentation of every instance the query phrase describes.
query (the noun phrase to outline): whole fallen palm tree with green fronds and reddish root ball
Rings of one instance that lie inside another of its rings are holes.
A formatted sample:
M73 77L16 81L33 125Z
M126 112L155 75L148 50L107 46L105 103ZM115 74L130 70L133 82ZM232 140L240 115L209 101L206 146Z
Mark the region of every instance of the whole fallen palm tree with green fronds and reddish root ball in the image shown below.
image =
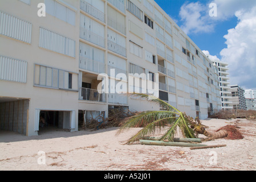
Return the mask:
M165 130L165 133L159 137L159 141L174 142L174 136L177 130L181 130L185 138L198 138L198 134L205 135L208 139L232 138L241 139L239 131L233 126L226 126L216 132L207 131L207 126L202 125L199 118L188 117L177 108L171 106L165 101L147 94L133 93L133 96L160 104L165 110L161 111L144 111L127 118L120 127L117 134L129 130L131 127L144 126L137 134L127 140L126 144L138 142L145 137L151 137L155 133Z

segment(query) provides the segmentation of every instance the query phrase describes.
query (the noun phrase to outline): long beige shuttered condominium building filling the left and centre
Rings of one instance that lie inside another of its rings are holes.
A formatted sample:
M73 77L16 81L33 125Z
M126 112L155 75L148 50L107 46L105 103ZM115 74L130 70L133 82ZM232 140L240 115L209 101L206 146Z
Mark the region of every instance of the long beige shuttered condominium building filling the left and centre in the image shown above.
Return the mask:
M221 109L217 69L154 1L0 1L2 130L38 135L42 116L77 131L113 107L162 109L127 90L205 119Z

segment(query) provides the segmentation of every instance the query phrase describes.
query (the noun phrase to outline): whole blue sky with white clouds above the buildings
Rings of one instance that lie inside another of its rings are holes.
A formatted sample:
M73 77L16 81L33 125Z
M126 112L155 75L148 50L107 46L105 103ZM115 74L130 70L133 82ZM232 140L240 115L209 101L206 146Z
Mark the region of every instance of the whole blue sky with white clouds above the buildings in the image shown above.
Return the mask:
M231 84L256 90L255 0L155 2L202 51L229 63ZM210 3L217 5L217 17L209 16Z

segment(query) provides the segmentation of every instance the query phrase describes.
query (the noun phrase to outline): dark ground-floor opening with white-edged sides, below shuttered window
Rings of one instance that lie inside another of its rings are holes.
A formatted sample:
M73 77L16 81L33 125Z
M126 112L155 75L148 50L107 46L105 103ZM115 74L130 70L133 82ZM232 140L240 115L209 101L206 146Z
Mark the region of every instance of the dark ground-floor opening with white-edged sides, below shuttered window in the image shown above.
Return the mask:
M75 111L37 110L38 135L74 129Z

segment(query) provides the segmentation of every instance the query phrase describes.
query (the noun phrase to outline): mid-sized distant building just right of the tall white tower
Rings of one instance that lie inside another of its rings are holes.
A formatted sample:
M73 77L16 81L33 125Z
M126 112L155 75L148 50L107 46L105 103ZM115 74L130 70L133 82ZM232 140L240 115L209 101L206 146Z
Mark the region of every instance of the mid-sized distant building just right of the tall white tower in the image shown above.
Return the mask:
M234 110L246 110L245 90L238 85L230 85L231 99Z

